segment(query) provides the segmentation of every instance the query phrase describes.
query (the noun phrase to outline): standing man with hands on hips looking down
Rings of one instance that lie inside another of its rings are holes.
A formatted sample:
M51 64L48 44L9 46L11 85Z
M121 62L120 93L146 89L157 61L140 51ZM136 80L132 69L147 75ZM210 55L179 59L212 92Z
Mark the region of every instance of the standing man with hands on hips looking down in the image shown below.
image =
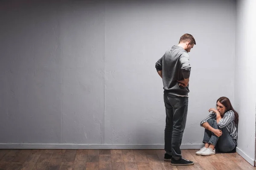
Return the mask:
M195 44L195 38L191 34L184 34L180 37L179 44L166 51L155 65L158 74L163 79L166 108L164 160L171 161L171 165L174 166L194 164L181 156L180 144L188 111L191 69L188 53Z

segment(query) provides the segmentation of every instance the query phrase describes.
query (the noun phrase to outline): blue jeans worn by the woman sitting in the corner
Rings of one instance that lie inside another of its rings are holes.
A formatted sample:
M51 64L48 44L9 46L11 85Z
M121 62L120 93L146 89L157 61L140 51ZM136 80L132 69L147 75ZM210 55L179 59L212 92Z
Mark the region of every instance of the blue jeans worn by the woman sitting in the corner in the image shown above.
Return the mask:
M232 139L227 128L219 128L214 119L209 119L207 122L211 127L221 130L222 135L218 137L213 132L205 129L203 143L213 144L214 146L218 143L216 149L224 153L232 151L236 147L236 140Z

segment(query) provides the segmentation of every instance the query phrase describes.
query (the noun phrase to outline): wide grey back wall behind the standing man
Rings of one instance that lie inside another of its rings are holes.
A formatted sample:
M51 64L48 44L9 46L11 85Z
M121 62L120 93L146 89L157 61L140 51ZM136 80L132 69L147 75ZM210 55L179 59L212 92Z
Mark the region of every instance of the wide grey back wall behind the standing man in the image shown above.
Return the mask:
M201 147L218 97L234 100L233 0L24 2L0 2L2 144L163 147L154 65L184 33L197 42L184 146Z

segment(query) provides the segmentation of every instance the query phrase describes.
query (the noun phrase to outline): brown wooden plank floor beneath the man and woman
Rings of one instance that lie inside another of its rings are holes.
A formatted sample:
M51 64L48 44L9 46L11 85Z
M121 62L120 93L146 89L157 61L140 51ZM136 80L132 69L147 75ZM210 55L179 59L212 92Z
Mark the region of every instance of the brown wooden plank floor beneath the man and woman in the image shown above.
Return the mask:
M237 153L197 156L182 150L192 166L171 166L164 150L0 150L0 170L247 170Z

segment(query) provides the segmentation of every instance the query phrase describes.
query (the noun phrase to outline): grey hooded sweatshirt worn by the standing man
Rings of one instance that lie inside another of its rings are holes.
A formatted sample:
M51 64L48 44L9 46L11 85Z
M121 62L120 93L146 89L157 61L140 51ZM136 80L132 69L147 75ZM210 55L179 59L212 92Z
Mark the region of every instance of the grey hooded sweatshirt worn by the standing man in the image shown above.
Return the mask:
M189 85L183 88L179 87L179 82L177 82L177 80L187 79L190 76L191 66L187 51L174 45L156 62L155 67L157 71L162 70L165 93L175 96L188 96Z

